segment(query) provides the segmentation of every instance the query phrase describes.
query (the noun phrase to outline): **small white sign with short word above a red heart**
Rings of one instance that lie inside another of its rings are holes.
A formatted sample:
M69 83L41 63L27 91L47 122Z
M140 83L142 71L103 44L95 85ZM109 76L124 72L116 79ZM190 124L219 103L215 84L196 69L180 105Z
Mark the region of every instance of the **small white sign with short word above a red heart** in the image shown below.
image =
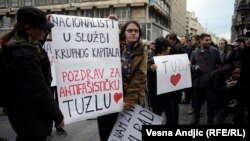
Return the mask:
M157 94L168 93L192 86L187 54L155 56Z

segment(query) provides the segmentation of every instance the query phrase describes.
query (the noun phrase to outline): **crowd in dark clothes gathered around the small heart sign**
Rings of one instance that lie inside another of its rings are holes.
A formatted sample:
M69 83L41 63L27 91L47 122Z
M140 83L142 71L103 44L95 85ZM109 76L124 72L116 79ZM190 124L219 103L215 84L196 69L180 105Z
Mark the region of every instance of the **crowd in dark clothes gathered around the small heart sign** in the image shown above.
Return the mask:
M148 48L147 88L153 112L165 112L166 124L178 124L178 104L190 104L193 118L190 124L199 124L201 108L206 105L207 124L225 124L225 118L233 114L232 124L247 125L249 108L249 50L250 32L231 45L220 39L212 43L206 33L177 38L170 33L159 37ZM192 88L156 95L156 69L153 56L187 53L190 60ZM182 99L182 93L185 94ZM173 120L175 118L175 120ZM174 121L174 122L173 122Z

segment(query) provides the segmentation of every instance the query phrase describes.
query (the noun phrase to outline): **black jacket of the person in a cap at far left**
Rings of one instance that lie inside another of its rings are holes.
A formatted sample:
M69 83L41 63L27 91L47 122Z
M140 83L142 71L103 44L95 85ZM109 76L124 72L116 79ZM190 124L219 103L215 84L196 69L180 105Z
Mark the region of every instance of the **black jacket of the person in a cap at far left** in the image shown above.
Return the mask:
M21 40L5 47L8 59L4 68L7 112L19 135L47 136L53 120L59 124L63 115L50 89L52 80L47 53Z

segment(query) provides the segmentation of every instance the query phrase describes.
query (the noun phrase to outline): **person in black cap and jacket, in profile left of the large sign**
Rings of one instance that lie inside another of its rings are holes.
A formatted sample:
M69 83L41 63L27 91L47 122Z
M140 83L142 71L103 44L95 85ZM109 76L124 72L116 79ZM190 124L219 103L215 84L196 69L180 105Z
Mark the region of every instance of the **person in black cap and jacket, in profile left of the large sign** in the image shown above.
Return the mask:
M26 6L17 11L17 23L2 39L4 92L8 118L17 141L50 141L53 121L64 127L64 117L54 100L50 62L42 43L54 25L45 12ZM41 42L42 40L42 42Z

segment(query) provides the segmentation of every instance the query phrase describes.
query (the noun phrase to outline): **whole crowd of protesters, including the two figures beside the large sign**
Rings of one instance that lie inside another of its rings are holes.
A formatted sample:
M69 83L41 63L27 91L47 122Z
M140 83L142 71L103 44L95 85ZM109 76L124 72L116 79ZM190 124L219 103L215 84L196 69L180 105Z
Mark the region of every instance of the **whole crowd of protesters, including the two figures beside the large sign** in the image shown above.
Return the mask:
M109 18L117 20L114 15ZM8 93L5 104L17 141L50 141L53 121L57 129L64 127L64 116L50 86L50 63L42 49L53 26L49 15L43 11L23 7L17 11L13 30L1 38L1 50L5 54L1 58L4 82L1 82L1 89ZM181 102L191 103L189 113L193 114L190 121L193 125L199 123L204 103L207 124L224 124L229 113L234 115L232 124L249 123L245 113L249 113L246 96L250 88L250 34L237 41L237 45L229 45L221 39L217 46L206 33L190 39L185 36L179 39L175 33L170 33L157 38L147 50L141 36L137 21L126 22L119 34L124 108L144 105L145 90L148 90L152 111L158 115L165 112L167 125L179 124ZM153 57L184 53L190 59L192 88L157 95L158 67ZM185 99L182 101L183 91ZM117 116L118 113L113 113L98 117L101 141L108 139Z

